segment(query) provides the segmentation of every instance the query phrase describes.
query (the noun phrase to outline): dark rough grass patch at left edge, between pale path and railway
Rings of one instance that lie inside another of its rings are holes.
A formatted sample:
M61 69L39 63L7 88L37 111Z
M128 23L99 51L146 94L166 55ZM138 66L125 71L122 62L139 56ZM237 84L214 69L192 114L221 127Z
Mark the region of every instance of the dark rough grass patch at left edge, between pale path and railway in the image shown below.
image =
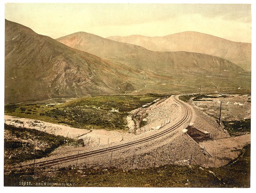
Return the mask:
M29 128L18 128L5 124L5 131L8 131L8 136L5 136L4 140L5 165L33 160L35 148L37 148L36 158L42 158L61 145L76 144L73 139Z

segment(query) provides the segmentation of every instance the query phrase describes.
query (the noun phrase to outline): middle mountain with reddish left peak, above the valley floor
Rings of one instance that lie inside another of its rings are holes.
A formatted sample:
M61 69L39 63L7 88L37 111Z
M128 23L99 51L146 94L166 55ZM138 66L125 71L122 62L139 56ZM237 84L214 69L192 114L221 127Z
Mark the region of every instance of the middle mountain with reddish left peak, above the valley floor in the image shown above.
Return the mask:
M199 74L209 75L209 72L219 75L225 73L223 71L226 71L226 74L243 71L228 60L207 54L150 51L137 45L112 41L85 32L73 33L57 40L72 48L150 72L194 69Z

